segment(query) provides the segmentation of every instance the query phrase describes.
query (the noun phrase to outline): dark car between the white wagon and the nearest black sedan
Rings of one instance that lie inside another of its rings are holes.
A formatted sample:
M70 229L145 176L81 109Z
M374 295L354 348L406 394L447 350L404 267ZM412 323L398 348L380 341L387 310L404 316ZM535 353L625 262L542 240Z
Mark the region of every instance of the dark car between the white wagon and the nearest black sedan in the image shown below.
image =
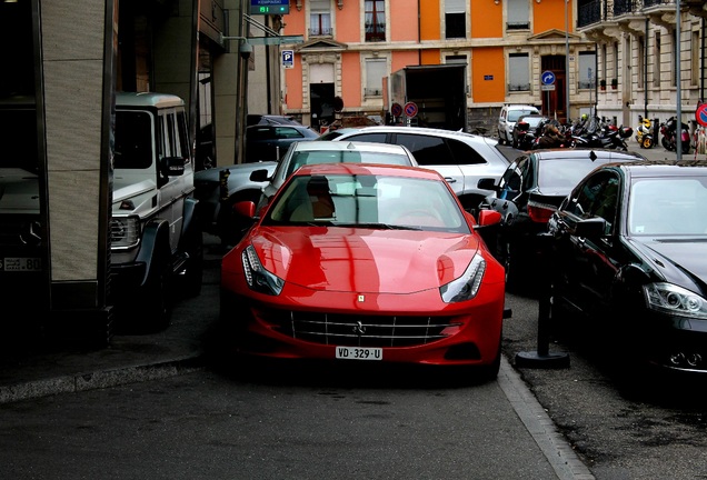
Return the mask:
M480 187L495 191L480 209L502 217L497 238L489 243L506 267L508 289L536 281L537 234L547 231L550 214L587 173L604 163L639 159L644 157L616 150L536 150L519 156L500 182L480 180Z

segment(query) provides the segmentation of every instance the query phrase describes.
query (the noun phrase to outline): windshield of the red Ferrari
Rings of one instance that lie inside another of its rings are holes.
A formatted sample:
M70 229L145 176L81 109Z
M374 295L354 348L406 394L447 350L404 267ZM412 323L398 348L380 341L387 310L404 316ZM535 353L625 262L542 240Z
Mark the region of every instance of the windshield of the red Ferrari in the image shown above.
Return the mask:
M470 232L441 181L376 176L293 177L263 224Z

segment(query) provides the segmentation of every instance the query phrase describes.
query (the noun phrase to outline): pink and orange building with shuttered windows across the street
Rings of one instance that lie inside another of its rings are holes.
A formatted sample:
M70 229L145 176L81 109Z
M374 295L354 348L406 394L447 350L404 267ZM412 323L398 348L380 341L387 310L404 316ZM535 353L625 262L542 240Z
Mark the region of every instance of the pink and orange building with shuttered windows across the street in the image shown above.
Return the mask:
M575 33L575 8L572 0L291 0L281 34L303 42L280 46L295 52L281 76L282 112L322 128L341 117L385 119L392 72L465 63L470 129L494 129L504 103L577 118L593 101L596 47ZM540 81L547 70L551 86Z

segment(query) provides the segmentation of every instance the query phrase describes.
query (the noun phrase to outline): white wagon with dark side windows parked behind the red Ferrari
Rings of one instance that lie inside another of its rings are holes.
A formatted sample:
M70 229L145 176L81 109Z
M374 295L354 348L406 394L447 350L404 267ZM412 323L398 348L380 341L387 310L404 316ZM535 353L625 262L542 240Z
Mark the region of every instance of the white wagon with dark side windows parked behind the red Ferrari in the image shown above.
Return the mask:
M451 130L376 126L340 129L319 140L357 140L405 146L420 167L438 171L449 182L464 208L472 213L481 200L491 193L478 188L479 179L499 179L509 163L498 150L496 140Z

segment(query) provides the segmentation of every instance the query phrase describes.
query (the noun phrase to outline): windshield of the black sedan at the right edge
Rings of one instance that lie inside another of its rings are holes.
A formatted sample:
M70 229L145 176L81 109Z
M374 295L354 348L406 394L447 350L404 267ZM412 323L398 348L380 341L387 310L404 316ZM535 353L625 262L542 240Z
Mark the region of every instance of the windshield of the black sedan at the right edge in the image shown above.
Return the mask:
M707 234L707 177L644 179L631 186L630 234Z

